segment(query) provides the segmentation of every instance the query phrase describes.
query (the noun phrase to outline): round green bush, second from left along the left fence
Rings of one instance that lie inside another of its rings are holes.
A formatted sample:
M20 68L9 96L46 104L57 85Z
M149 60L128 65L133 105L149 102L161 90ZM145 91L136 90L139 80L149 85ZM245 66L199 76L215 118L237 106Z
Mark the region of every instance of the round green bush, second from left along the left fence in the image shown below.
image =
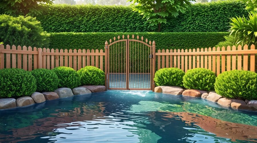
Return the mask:
M50 69L34 69L32 75L36 78L37 91L51 92L58 88L59 79Z

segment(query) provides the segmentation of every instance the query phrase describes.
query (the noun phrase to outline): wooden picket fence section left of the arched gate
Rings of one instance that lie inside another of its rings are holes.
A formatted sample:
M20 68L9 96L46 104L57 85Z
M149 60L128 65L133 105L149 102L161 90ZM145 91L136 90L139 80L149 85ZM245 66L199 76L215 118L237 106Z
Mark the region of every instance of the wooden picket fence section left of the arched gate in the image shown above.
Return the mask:
M86 65L103 68L103 56L101 49L46 49L26 46L0 45L0 69L22 68L31 71L37 68L53 69L59 66L72 67L79 70Z

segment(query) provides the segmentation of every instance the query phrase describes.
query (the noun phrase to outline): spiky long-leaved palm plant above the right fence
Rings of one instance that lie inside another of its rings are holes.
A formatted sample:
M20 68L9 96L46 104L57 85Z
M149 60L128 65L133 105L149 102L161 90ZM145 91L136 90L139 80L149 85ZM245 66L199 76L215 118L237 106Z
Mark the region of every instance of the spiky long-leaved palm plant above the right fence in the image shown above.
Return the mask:
M257 45L257 14L249 14L248 18L233 17L230 18L230 35L235 36L236 44Z

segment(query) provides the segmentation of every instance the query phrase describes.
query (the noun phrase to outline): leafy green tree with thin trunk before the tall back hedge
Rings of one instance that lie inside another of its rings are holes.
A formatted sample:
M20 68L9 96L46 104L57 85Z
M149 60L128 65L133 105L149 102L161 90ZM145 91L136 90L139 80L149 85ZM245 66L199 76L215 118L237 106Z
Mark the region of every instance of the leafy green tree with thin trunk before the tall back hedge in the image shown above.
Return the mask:
M133 0L130 0L132 2ZM134 0L133 11L138 11L149 26L158 25L160 32L161 23L167 23L167 17L177 17L179 12L185 13L185 9L194 0Z

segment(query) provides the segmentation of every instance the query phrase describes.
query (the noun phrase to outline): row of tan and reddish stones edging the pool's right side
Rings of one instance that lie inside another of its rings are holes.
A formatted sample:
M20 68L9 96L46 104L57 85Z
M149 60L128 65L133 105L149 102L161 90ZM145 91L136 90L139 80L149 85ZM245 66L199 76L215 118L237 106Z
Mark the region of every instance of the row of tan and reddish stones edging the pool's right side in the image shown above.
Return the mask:
M201 97L203 99L216 102L218 105L225 108L232 108L236 110L250 110L257 111L257 100L237 100L228 99L218 95L215 91L206 92L204 90L184 90L177 86L157 86L154 88L154 92L172 94L172 95L183 95L191 97Z

